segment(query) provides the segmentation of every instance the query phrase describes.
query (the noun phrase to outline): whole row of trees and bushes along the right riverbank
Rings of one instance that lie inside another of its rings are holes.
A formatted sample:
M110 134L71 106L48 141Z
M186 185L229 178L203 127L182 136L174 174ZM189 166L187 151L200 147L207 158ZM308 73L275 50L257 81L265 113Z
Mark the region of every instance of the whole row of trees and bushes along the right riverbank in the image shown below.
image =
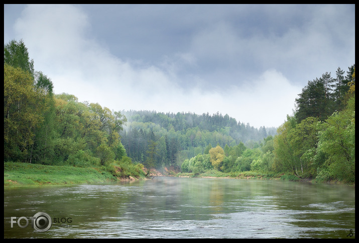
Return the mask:
M185 159L182 172L291 173L318 181L355 182L355 65L309 80L293 115L256 147L220 144Z

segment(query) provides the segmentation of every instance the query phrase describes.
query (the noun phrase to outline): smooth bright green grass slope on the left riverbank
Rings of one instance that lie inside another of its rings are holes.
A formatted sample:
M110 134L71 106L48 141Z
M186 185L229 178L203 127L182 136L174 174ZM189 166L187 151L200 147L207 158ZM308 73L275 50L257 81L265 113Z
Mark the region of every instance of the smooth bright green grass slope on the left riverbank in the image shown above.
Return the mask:
M117 170L118 171L118 170ZM108 168L44 166L29 163L4 163L4 186L69 185L130 179L118 177Z

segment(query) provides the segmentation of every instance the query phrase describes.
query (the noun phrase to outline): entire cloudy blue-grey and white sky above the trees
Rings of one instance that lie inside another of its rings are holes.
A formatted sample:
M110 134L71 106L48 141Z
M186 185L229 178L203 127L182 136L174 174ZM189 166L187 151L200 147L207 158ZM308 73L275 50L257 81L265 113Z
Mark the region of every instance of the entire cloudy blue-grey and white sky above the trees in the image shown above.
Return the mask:
M4 5L12 39L55 94L278 127L308 80L355 63L355 5Z

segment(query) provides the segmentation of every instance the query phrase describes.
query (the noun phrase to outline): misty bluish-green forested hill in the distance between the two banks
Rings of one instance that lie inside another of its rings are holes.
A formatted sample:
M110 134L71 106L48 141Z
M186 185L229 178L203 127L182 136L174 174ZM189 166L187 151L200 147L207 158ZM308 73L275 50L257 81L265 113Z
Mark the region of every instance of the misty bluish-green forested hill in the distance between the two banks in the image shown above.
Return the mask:
M243 142L248 147L254 147L263 138L274 136L277 129L265 126L257 129L219 112L197 115L130 110L122 111L122 114L127 117L127 126L120 135L128 155L135 161L143 161L148 156L149 142L153 141L167 150L159 150L163 153L163 162L167 164L165 161L169 160L173 165L176 159L203 153L208 145L225 147L226 144L235 146Z

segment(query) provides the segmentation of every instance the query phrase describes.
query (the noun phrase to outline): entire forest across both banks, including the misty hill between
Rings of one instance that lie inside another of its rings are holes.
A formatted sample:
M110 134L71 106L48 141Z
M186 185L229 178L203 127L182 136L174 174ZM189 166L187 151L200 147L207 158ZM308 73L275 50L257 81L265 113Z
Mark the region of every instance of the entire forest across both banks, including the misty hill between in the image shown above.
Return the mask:
M4 161L103 167L120 177L173 166L193 176L253 171L354 183L355 65L335 74L309 80L278 128L257 129L219 112L111 111L54 94L23 40L12 40L4 45Z

